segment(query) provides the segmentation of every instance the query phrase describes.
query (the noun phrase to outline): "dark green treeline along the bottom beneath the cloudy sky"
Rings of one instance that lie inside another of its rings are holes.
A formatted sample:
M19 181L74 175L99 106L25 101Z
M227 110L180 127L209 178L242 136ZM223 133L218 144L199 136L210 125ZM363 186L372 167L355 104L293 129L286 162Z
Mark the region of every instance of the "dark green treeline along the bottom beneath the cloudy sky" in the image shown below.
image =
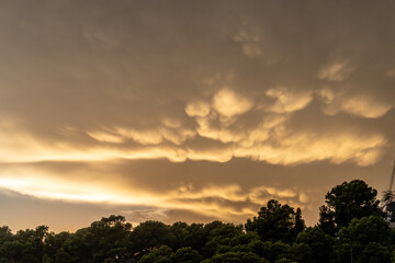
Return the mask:
M361 180L331 188L319 221L269 201L245 225L145 221L135 228L110 216L74 233L48 227L0 228L0 262L43 263L388 263L395 262L394 194L383 201Z

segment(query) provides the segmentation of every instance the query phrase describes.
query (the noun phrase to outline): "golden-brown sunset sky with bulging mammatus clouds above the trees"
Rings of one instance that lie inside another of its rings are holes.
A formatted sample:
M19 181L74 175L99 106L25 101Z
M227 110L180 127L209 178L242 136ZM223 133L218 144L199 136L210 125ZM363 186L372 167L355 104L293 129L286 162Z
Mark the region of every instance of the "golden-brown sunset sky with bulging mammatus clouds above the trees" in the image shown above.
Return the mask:
M388 188L395 2L0 2L0 225L235 224Z

